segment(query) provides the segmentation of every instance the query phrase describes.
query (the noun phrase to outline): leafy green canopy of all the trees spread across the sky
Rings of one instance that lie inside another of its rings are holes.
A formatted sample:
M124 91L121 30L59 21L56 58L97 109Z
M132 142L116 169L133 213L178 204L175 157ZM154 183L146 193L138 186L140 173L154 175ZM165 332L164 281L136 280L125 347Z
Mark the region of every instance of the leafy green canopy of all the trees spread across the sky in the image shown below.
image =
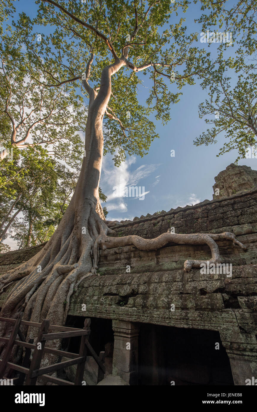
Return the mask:
M159 137L154 118L167 123L180 89L196 78L209 94L199 115L209 116L206 123L213 127L194 143L215 143L225 133L220 154L236 149L238 159L256 144L256 1L201 1L197 23L202 30L219 28L233 37L232 47L219 45L215 59L197 43L199 32L187 33L181 17L190 4L186 0L36 3L34 18L22 12L12 24L15 2L5 0L0 6L0 144L14 156L12 162L0 163L2 240L14 228L12 236L21 245L51 237L79 176L89 91L98 93L103 69L121 56L124 65L112 76L103 125L104 154L113 154L116 166L126 155L147 154ZM142 101L139 91L146 88L145 79L149 95ZM48 182L45 186L44 206L38 198L28 202L36 187L31 166L40 170L42 162L42 169L51 165L53 173L51 190ZM99 195L106 200L100 189ZM22 224L15 215L18 210Z

